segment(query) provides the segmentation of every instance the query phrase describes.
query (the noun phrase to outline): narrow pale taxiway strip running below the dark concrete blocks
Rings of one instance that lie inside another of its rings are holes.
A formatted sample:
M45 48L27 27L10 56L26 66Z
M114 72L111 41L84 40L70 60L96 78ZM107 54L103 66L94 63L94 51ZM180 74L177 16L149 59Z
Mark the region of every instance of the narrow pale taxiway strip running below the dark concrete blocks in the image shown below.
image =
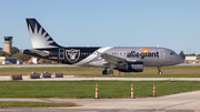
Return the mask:
M81 78L63 75L63 78L29 79L23 75L20 81L200 81L200 78ZM0 81L10 81L10 75L0 75Z

